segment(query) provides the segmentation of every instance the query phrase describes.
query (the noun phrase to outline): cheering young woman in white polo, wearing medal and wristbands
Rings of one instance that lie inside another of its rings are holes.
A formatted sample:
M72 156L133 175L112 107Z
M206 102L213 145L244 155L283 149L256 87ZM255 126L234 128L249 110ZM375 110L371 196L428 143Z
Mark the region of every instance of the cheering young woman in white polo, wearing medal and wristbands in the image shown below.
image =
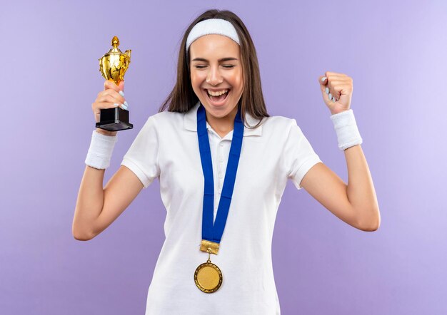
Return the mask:
M271 240L288 179L344 222L378 229L373 182L349 109L352 79L326 72L318 81L346 156L348 185L321 162L295 119L268 115L256 50L231 11L206 11L186 30L176 86L104 189L117 136L94 130L76 239L101 233L141 189L160 182L166 239L146 314L279 314ZM96 121L101 108L125 103L124 83L106 81L104 88L92 106Z

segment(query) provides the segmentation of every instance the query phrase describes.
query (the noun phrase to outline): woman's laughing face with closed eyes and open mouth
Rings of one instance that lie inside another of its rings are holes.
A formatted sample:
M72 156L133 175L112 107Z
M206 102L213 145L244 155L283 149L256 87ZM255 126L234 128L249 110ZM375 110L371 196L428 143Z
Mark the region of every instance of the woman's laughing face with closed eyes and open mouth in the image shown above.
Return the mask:
M201 36L189 46L189 58L192 88L204 105L207 118L216 123L232 123L243 91L238 43L218 34ZM215 95L228 93L214 98L209 91Z

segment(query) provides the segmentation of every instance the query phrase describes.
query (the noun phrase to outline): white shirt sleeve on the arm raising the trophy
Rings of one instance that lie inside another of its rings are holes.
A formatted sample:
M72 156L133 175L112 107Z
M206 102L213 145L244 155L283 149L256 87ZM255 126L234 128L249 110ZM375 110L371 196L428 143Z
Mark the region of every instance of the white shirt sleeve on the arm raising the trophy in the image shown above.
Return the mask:
M155 118L150 116L124 155L121 165L134 172L146 188L160 175L158 153L159 136Z

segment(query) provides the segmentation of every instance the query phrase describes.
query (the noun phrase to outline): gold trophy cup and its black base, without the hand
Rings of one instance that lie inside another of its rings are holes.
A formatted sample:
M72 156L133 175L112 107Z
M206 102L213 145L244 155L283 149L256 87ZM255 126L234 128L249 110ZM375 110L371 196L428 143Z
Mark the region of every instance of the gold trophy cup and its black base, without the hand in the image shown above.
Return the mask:
M119 39L116 36L112 38L111 45L113 48L99 58L99 72L106 80L113 81L118 86L124 80L124 73L129 68L129 63L131 63L131 50L122 53L118 48ZM96 128L117 131L132 129L134 125L129 123L129 110L116 106L116 108L101 109Z

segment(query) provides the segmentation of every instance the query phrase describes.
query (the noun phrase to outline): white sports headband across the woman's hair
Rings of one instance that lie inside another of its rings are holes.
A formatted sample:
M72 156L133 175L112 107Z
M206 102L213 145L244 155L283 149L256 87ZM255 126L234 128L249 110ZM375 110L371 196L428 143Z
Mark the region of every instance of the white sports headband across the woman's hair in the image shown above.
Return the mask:
M241 45L241 43L239 43L238 33L231 22L224 19L207 19L194 25L193 29L189 32L188 38L186 38L186 56L188 56L188 49L193 41L201 36L209 34L227 36L233 41L236 41L238 45Z

